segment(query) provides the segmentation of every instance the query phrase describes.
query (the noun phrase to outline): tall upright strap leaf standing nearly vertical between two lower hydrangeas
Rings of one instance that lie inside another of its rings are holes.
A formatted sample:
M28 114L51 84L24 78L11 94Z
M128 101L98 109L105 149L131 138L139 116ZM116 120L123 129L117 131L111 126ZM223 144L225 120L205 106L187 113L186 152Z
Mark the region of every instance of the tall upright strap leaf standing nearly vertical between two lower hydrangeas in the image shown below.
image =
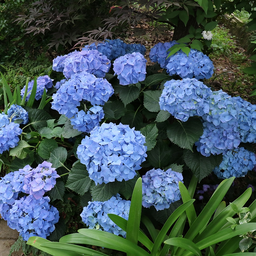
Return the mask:
M140 217L142 207L142 180L136 181L132 193L131 206L126 230L126 240L134 244L138 244L138 236L140 230ZM128 255L129 256L129 255Z

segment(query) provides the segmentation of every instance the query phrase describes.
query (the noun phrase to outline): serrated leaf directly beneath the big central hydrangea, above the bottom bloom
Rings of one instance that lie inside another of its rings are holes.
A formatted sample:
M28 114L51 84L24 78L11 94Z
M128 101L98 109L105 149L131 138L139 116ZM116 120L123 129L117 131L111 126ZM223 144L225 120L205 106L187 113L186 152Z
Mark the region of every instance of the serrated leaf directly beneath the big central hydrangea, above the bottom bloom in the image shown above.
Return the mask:
M91 188L92 200L93 201L107 201L112 196L115 196L118 193L121 182L114 181L108 182L107 184L102 183L98 184Z

